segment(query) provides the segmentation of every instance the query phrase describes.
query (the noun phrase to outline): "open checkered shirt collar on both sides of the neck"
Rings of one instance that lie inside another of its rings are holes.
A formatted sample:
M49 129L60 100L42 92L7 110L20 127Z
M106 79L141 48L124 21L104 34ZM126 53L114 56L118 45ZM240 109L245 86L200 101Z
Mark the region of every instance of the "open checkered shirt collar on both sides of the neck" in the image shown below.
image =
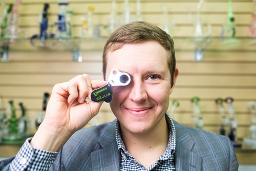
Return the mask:
M175 153L175 147L176 147L176 131L175 131L173 120L172 118L170 118L170 116L167 113L165 113L165 118L167 121L167 125L169 127L169 139L168 139L168 145L167 145L166 151L159 158L159 160L169 159L170 156ZM115 123L115 136L116 136L116 142L117 142L117 147L119 151L129 156L130 154L129 152L126 151L125 145L121 138L120 123L118 120L116 120L116 123Z

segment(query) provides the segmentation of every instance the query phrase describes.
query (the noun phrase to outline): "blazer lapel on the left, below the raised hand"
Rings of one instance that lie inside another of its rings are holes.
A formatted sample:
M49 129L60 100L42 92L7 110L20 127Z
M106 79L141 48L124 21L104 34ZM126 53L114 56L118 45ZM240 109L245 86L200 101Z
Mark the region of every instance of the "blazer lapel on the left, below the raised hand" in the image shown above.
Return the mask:
M91 153L92 170L119 170L120 153L115 139L114 124L111 124L99 139L101 149Z

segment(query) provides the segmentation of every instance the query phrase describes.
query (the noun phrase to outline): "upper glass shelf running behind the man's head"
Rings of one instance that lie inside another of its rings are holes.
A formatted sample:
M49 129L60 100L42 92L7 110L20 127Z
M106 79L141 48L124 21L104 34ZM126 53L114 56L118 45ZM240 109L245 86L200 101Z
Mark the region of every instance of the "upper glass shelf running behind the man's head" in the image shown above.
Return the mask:
M205 37L173 37L173 39L177 51L193 51L197 48L198 41L206 42L202 43L202 49L205 51L256 51L256 38L251 37L224 38L223 40L220 37L207 37L210 41L204 41ZM72 37L49 38L45 40L45 43L41 43L40 39L33 39L34 45L32 45L29 38L17 38L13 42L10 42L8 38L0 38L0 46L8 45L9 51L97 51L103 50L105 42L106 37L100 39ZM226 45L224 45L225 42ZM228 42L231 43L228 44Z

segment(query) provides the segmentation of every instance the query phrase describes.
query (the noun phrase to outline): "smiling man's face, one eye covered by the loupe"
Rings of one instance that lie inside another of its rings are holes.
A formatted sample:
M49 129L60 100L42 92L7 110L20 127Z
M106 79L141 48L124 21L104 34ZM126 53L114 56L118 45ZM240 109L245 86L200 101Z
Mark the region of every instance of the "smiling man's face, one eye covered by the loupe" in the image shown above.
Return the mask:
M148 41L126 44L106 57L106 78L113 68L131 76L127 86L112 88L110 106L122 131L143 134L160 129L172 92L166 50Z

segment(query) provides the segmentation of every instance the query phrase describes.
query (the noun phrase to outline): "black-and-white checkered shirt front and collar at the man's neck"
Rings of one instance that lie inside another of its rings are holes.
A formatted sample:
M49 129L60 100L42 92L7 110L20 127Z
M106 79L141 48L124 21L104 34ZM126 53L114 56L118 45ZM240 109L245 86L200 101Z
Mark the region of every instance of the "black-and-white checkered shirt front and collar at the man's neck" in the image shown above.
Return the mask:
M126 150L125 145L120 137L119 121L116 120L115 135L117 146L121 156L120 170L138 171L138 170L175 170L174 153L176 146L176 132L173 120L166 113L165 118L169 126L169 140L166 151L159 157L159 159L146 169L143 165L139 164L134 157Z

